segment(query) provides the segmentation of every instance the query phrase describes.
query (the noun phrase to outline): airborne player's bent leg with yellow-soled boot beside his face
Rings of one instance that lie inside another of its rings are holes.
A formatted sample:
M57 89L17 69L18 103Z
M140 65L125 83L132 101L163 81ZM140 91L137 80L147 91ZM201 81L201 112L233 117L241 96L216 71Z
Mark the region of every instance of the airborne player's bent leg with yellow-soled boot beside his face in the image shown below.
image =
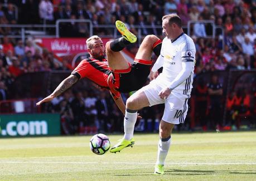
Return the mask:
M115 26L117 30L122 34L121 38L118 38L114 41L107 42L106 52L107 60L109 62L110 69L114 70L125 70L129 68L128 61L120 53L121 50L131 43L137 41L137 37L131 33L127 27L121 21L116 21Z

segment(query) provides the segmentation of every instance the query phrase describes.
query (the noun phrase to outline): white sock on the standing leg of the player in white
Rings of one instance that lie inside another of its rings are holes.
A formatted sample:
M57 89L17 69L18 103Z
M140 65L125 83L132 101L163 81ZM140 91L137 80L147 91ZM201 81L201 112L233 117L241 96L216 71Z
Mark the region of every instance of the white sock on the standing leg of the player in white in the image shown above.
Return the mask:
M164 165L165 159L168 154L169 148L171 145L171 136L165 139L161 139L158 142L158 151L157 151L157 165Z

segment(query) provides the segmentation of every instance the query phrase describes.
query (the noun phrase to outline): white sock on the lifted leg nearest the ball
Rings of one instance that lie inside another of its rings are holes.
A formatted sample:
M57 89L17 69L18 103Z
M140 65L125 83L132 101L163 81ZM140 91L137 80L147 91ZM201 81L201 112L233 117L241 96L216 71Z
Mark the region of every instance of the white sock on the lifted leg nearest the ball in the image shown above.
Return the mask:
M134 125L137 120L137 111L125 110L124 116L124 139L131 140L133 138Z

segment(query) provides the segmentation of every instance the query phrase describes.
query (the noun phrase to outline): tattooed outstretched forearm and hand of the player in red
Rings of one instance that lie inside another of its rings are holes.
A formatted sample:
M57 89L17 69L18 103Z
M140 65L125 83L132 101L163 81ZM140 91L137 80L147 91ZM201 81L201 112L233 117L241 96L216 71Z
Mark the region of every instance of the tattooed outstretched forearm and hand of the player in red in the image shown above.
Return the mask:
M45 97L44 99L42 99L41 101L37 102L36 105L38 106L38 105L42 104L43 102L51 101L55 97L57 97L60 94L62 94L62 92L64 92L65 90L69 89L77 81L78 81L78 77L76 77L75 75L70 75L69 77L64 79L59 84L59 86L57 86L57 88L54 90L54 92L52 92L51 95L49 95L49 96Z

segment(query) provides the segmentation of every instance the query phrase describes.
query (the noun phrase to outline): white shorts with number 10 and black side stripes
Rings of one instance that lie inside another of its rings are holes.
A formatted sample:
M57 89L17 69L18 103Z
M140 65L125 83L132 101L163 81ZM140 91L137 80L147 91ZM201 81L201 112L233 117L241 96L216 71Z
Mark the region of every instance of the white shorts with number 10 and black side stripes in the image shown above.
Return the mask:
M165 87L161 87L157 84L157 81L153 80L147 86L142 88L142 91L146 94L150 106L157 104L165 104L165 111L163 112L162 120L171 124L184 123L189 99L184 96L179 96L176 92L171 92L167 99L161 99L158 96L159 92Z

